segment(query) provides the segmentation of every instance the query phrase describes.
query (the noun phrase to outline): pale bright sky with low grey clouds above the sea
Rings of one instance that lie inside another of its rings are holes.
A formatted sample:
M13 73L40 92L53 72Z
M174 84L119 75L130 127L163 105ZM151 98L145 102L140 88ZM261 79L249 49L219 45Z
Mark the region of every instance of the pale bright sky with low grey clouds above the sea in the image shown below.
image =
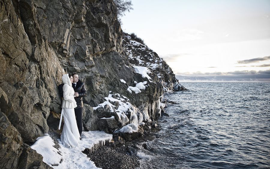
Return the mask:
M175 74L261 75L270 81L270 0L132 0L122 30Z

